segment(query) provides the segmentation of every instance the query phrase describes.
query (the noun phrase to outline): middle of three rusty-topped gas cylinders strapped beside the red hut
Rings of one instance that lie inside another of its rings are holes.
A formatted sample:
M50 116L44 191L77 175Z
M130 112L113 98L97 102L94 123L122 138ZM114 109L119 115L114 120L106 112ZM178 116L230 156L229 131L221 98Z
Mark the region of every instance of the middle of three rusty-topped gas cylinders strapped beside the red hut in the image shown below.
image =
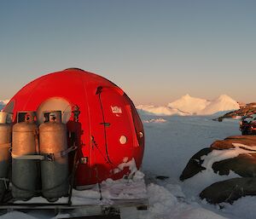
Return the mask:
M38 160L27 158L37 154L38 127L35 112L18 112L17 118L13 126L12 194L15 199L27 200L38 189Z

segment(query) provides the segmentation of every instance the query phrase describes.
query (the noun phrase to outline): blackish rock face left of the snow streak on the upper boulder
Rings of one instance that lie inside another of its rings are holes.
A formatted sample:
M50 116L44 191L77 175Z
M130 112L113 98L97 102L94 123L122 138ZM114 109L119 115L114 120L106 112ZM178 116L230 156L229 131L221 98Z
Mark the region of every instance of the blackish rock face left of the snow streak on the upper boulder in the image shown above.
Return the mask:
M185 169L179 179L184 181L192 176L195 176L201 170L206 170L205 167L201 166L204 160L201 158L203 155L207 155L212 152L212 148L203 148L200 152L195 153L195 155L189 159L189 163L186 165Z

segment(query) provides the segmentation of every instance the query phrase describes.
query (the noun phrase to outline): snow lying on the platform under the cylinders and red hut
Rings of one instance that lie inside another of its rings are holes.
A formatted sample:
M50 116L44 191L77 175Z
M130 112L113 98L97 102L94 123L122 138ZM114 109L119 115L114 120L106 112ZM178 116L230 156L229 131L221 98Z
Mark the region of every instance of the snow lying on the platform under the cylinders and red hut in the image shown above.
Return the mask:
M132 179L120 179L113 181L108 179L101 183L101 192L99 185L95 185L90 189L75 190L73 189L72 203L73 205L112 205L113 200L132 200L146 199L147 188L144 183L143 172L137 170ZM67 198L58 199L56 204L67 204ZM15 204L47 204L47 199L43 197L34 197L28 201L18 200ZM0 217L1 218L1 217Z

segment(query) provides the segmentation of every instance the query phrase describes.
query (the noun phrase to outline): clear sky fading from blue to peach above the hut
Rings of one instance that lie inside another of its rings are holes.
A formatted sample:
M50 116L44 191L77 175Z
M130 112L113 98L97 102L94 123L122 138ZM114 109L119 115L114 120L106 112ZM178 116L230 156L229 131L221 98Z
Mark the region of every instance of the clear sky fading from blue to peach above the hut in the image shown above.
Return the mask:
M136 103L227 94L256 101L256 1L3 0L0 100L67 67Z

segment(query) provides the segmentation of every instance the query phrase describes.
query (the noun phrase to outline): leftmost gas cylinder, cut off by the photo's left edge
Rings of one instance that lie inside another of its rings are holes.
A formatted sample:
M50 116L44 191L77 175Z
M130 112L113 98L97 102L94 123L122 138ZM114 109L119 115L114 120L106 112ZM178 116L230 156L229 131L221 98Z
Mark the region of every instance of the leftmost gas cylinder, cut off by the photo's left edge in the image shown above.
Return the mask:
M11 145L11 124L7 124L8 113L0 112L0 199L9 185L9 148Z

